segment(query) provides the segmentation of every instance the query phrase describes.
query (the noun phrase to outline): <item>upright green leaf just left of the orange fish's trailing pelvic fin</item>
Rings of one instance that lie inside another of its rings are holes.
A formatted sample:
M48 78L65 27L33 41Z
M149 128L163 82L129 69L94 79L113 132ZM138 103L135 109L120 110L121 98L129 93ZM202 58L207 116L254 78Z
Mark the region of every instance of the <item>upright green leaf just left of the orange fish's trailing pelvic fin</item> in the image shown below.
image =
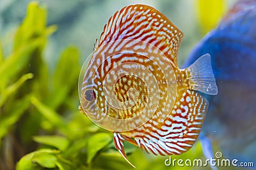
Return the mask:
M108 145L111 141L111 136L108 133L98 133L93 135L90 139L88 139L87 145L87 163L90 164L92 162L93 157L95 157L96 153L99 152L104 146Z

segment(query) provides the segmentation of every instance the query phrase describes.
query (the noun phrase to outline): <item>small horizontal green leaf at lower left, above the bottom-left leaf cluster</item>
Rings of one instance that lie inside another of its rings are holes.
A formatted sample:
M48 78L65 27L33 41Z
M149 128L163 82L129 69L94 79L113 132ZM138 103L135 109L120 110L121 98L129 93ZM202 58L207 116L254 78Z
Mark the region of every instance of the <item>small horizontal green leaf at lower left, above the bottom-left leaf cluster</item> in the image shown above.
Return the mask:
M62 136L34 136L33 138L36 142L42 143L44 145L54 146L62 151L67 149L69 141L67 138Z

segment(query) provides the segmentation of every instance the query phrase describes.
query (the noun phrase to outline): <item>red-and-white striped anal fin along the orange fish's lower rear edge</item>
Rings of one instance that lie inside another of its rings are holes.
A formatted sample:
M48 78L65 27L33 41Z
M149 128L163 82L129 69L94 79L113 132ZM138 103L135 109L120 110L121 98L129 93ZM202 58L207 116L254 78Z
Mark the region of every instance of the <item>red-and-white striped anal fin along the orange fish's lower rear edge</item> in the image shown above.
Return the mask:
M204 97L193 90L185 90L177 98L170 117L163 124L159 124L157 117L152 117L138 129L121 134L133 138L148 153L184 153L198 138L207 108L208 102Z

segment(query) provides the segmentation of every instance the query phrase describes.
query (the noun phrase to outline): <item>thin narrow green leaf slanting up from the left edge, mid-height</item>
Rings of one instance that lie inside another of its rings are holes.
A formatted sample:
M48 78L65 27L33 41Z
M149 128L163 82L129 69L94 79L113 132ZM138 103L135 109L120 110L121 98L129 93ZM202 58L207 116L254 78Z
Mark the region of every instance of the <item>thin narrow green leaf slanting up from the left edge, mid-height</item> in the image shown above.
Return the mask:
M6 99L8 99L8 97L12 95L13 92L15 92L20 87L20 85L22 85L26 80L29 80L31 78L33 78L32 73L24 74L17 82L15 82L13 85L10 85L6 90L4 90L0 98L0 107L3 106L4 101L6 101Z

